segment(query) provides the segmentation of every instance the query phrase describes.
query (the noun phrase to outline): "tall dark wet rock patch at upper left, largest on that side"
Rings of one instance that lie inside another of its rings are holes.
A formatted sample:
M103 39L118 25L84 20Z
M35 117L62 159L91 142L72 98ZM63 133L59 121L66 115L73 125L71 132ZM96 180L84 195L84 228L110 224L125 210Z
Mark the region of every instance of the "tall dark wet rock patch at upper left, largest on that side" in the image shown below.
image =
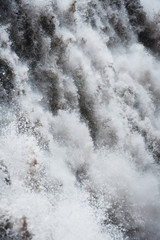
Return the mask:
M42 37L38 22L32 21L29 11L22 8L22 4L15 5L12 13L10 39L12 49L25 60L39 60L42 48Z

